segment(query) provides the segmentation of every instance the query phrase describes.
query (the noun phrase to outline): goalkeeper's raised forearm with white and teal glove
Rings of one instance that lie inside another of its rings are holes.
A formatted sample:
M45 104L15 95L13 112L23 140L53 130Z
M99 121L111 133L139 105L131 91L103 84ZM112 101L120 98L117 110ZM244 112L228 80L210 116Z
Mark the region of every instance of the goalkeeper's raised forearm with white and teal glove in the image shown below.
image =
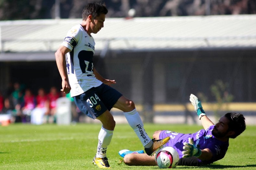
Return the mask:
M201 101L197 98L197 96L191 94L189 100L195 107L195 112L197 113L199 119L201 120L203 128L206 130L211 125L214 125L213 122L205 115Z

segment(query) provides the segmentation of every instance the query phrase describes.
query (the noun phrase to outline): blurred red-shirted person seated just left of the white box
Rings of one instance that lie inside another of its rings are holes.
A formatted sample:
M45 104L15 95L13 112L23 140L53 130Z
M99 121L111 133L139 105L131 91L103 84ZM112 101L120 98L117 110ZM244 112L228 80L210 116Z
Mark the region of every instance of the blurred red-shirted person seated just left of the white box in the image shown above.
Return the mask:
M51 87L47 97L49 99L49 112L46 113L46 121L48 123L53 123L56 122L56 100L60 97L60 93L57 91L56 87Z

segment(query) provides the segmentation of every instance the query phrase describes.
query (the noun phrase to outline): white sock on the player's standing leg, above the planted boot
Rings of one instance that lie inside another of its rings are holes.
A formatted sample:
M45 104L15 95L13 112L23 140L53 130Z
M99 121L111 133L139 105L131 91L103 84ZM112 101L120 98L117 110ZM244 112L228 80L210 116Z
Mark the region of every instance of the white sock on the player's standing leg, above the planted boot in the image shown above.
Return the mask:
M106 130L103 127L101 127L98 139L98 147L97 147L97 158L104 158L107 156L107 146L110 144L110 141L113 136L113 130Z

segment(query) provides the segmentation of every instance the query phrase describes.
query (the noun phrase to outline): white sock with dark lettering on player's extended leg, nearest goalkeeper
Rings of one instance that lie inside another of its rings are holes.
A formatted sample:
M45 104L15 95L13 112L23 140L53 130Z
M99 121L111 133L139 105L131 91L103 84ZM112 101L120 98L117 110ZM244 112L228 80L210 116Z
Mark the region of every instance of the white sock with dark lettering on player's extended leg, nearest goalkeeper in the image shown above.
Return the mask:
M152 140L146 133L144 129L144 124L142 123L142 120L140 119L140 115L137 112L136 108L130 112L124 112L125 118L127 119L129 125L134 130L136 135L139 137L140 142L145 147L147 144L150 146L152 145ZM146 147L149 148L150 146Z

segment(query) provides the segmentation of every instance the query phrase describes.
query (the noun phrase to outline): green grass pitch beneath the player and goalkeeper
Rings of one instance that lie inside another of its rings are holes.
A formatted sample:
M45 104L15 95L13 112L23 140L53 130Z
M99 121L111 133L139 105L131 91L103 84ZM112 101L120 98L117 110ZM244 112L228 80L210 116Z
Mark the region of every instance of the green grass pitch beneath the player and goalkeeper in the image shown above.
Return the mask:
M81 170L98 169L92 164L98 143L100 124L31 125L11 124L0 127L1 170ZM149 136L155 130L173 130L193 133L197 125L145 124ZM247 126L240 136L230 139L225 158L204 167L177 166L176 169L256 169L256 126ZM157 166L128 166L122 163L118 151L141 150L142 144L128 126L117 124L107 157L112 169L159 169Z

